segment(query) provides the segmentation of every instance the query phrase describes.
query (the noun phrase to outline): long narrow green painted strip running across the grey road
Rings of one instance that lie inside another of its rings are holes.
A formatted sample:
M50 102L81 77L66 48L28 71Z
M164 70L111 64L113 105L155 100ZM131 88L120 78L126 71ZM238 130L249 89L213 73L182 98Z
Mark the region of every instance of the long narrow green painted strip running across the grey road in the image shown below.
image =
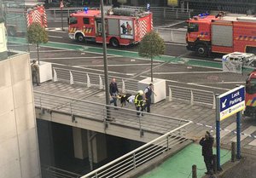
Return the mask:
M9 37L9 42L10 43L27 43L25 38L20 38L20 37ZM96 53L96 54L103 53L102 48L90 47L90 46L78 45L78 44L49 42L49 43L41 44L40 46L55 48L55 49L78 50L78 51L84 51L84 52ZM133 52L133 51L108 49L107 53L108 55L119 55L127 58L142 59L142 57L140 57L137 52ZM216 61L195 60L195 59L189 59L189 58L173 57L168 55L161 55L159 57L155 57L154 60L160 60L160 61L166 61L166 62L169 61L173 63L185 63L189 66L204 66L204 67L222 69L222 63L216 62ZM245 69L244 72L247 72L247 71L250 72L252 70L253 69L248 68L248 69Z

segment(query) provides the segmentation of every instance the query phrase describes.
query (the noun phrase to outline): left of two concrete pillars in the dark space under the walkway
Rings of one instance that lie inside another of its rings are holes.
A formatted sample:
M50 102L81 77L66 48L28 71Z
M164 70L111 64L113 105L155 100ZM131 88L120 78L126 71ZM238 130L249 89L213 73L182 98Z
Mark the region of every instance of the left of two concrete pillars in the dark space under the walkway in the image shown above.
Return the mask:
M85 129L73 127L73 150L75 158L88 158L87 133Z

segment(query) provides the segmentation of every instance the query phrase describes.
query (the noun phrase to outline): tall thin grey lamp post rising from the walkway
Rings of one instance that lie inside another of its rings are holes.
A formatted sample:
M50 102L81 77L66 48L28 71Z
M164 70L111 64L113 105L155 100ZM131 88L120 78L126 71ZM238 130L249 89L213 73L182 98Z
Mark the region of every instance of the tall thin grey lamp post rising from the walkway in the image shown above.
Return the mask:
M105 32L105 18L103 10L103 0L101 0L101 14L102 14L102 45L103 45L103 59L104 59L104 79L105 79L105 95L106 105L109 105L109 89L108 89L108 58L107 58L107 45L106 45L106 32ZM107 112L108 112L107 107Z

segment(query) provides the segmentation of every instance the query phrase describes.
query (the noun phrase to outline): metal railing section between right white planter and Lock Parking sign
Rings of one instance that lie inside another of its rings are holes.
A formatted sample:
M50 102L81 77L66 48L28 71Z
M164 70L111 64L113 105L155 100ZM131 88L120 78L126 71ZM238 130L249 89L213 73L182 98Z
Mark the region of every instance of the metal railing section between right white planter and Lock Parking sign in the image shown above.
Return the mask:
M169 100L173 98L180 100L189 100L191 105L201 103L212 106L215 109L215 95L212 91L202 89L192 89L169 85Z

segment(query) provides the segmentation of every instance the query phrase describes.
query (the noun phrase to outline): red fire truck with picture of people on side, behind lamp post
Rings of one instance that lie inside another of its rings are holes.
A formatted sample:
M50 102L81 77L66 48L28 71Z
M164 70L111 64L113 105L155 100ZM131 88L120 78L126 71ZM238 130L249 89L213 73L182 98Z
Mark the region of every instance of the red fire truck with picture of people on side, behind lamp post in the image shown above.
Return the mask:
M126 13L124 13L126 12ZM153 29L151 12L131 9L111 9L105 15L106 43L117 47L138 43ZM100 10L90 9L70 14L68 36L79 42L102 43L102 17Z

